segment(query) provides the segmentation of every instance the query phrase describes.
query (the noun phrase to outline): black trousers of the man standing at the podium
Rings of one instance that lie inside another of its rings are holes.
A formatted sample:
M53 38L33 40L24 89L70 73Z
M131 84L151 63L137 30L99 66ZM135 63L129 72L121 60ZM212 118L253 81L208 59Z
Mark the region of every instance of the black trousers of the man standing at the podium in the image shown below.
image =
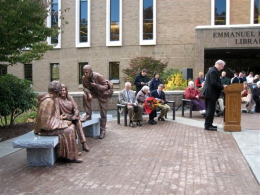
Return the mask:
M212 99L205 98L205 105L206 105L206 118L205 118L205 128L209 128L212 126L214 114L215 114L215 106L216 101Z

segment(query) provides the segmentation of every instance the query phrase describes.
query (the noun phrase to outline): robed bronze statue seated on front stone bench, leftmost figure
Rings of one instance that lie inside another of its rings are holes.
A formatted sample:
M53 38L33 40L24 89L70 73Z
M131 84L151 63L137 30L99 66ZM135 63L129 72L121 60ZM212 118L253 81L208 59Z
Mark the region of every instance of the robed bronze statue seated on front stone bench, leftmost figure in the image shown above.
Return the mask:
M82 162L83 159L78 158L75 125L69 120L60 119L59 105L55 99L60 91L61 84L53 80L48 85L47 94L38 94L34 133L46 136L57 135L58 156L68 162Z

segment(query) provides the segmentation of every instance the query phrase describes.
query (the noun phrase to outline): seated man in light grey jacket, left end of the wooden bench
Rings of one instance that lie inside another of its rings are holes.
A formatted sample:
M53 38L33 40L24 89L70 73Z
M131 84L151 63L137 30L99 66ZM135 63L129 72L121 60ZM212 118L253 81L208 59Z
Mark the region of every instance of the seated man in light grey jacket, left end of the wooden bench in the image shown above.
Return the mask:
M141 105L138 105L137 99L134 95L134 91L131 90L131 83L125 82L124 86L124 89L119 91L118 100L120 104L127 106L130 120L129 126L135 127L135 125L133 124L133 120L137 120L137 126L142 126L141 121L143 107ZM122 112L122 109L119 109L119 111Z

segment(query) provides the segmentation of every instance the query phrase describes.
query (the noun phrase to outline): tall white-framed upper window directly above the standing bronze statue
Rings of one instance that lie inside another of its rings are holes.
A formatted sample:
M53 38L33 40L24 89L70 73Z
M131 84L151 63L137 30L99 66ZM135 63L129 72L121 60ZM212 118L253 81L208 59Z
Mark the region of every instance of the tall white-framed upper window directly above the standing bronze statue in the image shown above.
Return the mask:
M90 46L90 0L76 0L76 47Z

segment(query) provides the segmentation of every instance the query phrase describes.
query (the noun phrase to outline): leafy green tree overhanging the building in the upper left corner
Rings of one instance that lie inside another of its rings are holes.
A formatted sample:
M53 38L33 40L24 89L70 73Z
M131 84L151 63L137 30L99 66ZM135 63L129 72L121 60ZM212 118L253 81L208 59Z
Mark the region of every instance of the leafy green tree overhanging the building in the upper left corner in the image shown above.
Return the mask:
M52 11L48 8L50 2L0 0L1 69L18 62L29 63L32 60L40 60L47 50L53 48L53 45L47 44L46 39L48 36L57 36L60 27L57 25L46 27L45 19L48 14L56 15L61 10ZM64 19L62 15L60 17ZM29 49L24 50L25 48Z

